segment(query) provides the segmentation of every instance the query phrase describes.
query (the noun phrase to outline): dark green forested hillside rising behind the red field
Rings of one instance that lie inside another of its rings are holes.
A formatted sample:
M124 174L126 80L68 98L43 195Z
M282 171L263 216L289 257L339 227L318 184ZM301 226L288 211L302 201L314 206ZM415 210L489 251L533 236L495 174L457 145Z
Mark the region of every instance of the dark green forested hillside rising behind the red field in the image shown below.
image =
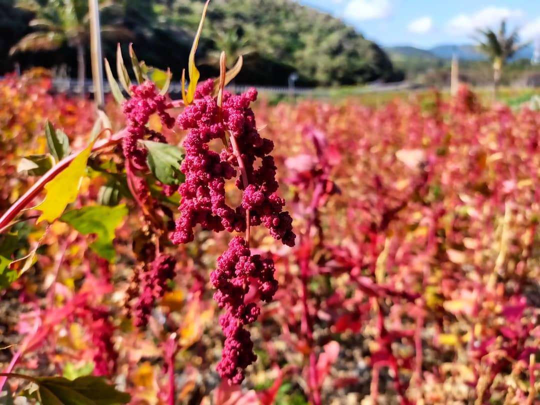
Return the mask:
M56 0L34 3L45 5L51 1ZM67 46L53 52L8 55L11 46L32 31L28 26L32 13L16 9L16 3L0 0L2 73L12 70L18 62L23 69L66 64L71 76L75 76L75 51ZM203 2L113 0L113 3L116 7L102 13L102 22L129 30L141 58L156 66L170 66L178 78L187 64L186 55ZM203 75L217 73L218 49L225 49L231 59L245 55L245 67L237 83L286 85L292 72L299 73L300 85L401 78L377 44L339 19L292 0L213 0L208 17L198 55ZM104 37L106 55L113 56L117 41L118 38ZM89 66L89 61L86 62Z

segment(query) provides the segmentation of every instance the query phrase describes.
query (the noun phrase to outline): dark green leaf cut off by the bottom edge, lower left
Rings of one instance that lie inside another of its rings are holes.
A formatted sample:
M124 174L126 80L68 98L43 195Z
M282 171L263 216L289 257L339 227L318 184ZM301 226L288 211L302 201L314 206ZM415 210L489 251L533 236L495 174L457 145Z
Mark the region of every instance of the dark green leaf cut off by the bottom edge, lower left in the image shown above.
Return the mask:
M42 405L113 405L127 403L131 396L107 384L103 377L37 378Z

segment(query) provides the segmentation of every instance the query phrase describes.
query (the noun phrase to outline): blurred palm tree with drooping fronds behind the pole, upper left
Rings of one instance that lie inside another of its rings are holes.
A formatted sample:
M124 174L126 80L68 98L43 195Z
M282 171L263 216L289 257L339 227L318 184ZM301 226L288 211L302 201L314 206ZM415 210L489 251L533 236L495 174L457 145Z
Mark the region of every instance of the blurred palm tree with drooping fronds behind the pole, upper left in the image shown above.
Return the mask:
M100 3L100 10L116 6L112 2L103 2ZM77 50L77 78L80 89L84 89L84 53L90 40L87 0L18 0L17 7L35 14L29 25L37 31L21 38L11 48L10 55L25 51L51 51L68 44ZM125 28L112 25L103 25L102 33L118 39L131 36Z

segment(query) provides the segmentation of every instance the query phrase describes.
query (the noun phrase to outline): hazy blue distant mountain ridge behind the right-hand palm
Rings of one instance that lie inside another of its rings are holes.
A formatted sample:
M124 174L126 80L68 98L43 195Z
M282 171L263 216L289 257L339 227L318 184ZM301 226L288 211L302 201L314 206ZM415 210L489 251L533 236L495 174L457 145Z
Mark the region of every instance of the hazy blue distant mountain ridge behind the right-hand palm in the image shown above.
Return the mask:
M389 46L385 48L389 55L396 59L424 58L424 59L451 59L456 55L461 60L486 60L485 55L472 44L443 44L430 49L415 48L414 46ZM534 46L529 44L519 50L512 60L531 59Z

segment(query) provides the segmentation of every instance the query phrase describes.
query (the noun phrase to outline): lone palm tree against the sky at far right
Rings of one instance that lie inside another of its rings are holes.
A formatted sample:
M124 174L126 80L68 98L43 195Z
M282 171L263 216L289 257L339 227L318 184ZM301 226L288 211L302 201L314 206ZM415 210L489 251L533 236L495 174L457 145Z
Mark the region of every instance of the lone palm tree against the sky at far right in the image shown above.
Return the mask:
M503 20L496 33L491 29L478 30L480 38L477 38L478 49L487 55L493 64L493 89L496 95L497 86L501 82L502 71L507 60L528 44L519 44L518 30L514 30L507 36L506 22Z

